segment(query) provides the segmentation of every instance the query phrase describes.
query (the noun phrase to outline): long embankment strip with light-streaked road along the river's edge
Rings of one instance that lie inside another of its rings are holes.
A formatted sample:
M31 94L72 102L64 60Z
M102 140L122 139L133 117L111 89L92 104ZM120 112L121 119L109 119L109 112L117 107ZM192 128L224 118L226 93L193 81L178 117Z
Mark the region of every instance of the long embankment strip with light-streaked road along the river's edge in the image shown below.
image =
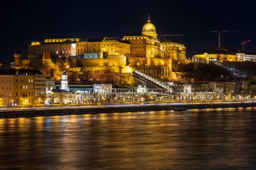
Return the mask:
M18 118L32 116L61 116L72 114L110 114L117 112L150 112L173 110L207 110L216 108L254 108L255 101L226 101L226 102L183 102L183 103L98 103L94 105L62 105L38 106L34 108L1 108L0 118Z

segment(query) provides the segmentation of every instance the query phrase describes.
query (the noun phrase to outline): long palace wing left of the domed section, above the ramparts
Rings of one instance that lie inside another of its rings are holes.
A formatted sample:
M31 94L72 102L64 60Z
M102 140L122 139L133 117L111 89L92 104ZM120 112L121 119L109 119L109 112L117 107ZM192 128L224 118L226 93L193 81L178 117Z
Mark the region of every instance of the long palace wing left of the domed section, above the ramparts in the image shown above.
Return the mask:
M103 40L88 40L87 38L46 39L44 42L32 42L28 46L28 58L42 58L43 52L55 56L79 56L84 53L100 52L102 57L130 53L130 45L114 37Z

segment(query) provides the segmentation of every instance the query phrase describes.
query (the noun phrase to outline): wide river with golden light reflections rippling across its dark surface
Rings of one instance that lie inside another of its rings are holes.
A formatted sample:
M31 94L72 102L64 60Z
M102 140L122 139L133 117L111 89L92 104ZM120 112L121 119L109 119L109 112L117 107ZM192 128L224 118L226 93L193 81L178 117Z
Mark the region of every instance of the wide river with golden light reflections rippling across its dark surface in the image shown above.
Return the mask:
M0 119L0 169L256 169L256 110Z

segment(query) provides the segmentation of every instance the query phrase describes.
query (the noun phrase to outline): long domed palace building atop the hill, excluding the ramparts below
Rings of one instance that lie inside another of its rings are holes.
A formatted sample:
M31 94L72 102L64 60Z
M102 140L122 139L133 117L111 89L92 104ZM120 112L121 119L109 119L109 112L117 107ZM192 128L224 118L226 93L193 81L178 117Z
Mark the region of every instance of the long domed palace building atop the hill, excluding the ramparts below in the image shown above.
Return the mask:
M53 38L45 39L44 42L32 42L28 46L28 58L42 58L43 52L57 56L80 56L88 52L100 52L102 57L124 54L125 56L158 58L166 54L177 60L185 60L185 50L183 44L159 42L156 28L148 18L140 35L124 36L122 40L117 40L115 37L105 37L102 40Z

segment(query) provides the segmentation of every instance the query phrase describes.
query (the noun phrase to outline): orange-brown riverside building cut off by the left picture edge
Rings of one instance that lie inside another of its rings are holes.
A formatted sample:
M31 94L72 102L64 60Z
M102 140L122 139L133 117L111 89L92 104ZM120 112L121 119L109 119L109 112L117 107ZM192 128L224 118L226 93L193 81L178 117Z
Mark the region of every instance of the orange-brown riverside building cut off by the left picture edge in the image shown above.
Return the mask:
M0 70L0 105L13 104L13 73Z

